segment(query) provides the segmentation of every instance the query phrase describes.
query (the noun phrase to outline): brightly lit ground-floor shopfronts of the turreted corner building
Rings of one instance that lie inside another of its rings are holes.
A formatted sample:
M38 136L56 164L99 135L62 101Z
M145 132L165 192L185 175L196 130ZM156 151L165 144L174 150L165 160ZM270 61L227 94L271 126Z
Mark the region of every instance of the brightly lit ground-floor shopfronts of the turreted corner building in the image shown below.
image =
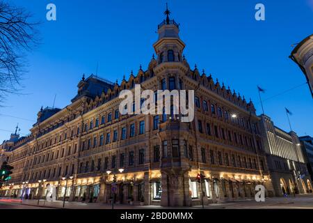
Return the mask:
M55 188L57 200L193 206L200 205L201 192L204 195L204 205L254 198L255 186L260 184L266 187L266 196L273 194L268 176L201 171L204 175L201 187L196 178L198 173L197 169L178 175L155 170L109 176L77 176L54 181L39 180L37 183L9 183L1 188L0 196L46 199L50 185Z

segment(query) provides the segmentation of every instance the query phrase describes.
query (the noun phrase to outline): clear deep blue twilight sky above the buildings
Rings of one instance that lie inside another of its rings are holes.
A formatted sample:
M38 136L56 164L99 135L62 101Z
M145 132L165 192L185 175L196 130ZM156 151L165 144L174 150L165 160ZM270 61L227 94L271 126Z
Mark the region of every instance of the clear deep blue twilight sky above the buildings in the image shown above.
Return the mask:
M157 40L157 24L164 16L166 0L10 0L24 6L39 27L42 44L28 55L22 82L24 95L10 95L0 107L0 141L8 139L19 123L28 134L41 106L63 108L77 93L83 73L115 82L139 65L147 68ZM48 3L55 3L56 22L45 18ZM257 84L266 89L263 99L305 83L298 66L288 58L291 44L313 31L313 0L294 1L183 1L168 0L171 18L181 24L186 59L193 68L204 68L231 89L252 98L260 114ZM255 20L255 5L264 3L265 22ZM313 100L308 87L264 102L265 113L275 125L298 135L313 135Z

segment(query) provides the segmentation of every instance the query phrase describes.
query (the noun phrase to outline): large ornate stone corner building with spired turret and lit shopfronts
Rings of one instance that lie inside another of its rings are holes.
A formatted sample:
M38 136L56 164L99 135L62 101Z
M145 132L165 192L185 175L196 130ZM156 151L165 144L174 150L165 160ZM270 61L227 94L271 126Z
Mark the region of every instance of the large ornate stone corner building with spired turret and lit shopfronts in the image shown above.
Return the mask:
M253 103L190 68L169 14L158 26L157 56L147 70L120 84L83 77L70 105L40 109L29 136L15 133L3 142L1 158L15 169L1 196L44 198L54 185L57 199L68 201L110 203L114 196L119 203L191 206L200 204L201 188L204 204L254 197L259 184L274 194ZM195 90L194 120L121 115L118 95L135 84Z

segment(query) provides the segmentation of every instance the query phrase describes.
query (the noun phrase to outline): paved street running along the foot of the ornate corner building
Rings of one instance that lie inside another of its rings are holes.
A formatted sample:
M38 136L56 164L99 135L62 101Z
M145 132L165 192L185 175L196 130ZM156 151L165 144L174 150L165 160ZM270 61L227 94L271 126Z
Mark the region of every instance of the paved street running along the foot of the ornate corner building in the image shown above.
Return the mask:
M33 209L33 208L62 208L62 201L48 202L40 200L39 206L36 200L19 199L0 199L0 209ZM65 208L70 209L111 209L111 206L104 203L81 203L81 202L65 202ZM154 209L162 208L161 206L130 206L116 204L116 209ZM202 208L202 206L193 206L194 208ZM313 195L297 195L296 197L274 197L267 198L265 202L256 202L255 200L234 201L227 203L212 203L204 206L206 209L276 209L276 208L313 208Z

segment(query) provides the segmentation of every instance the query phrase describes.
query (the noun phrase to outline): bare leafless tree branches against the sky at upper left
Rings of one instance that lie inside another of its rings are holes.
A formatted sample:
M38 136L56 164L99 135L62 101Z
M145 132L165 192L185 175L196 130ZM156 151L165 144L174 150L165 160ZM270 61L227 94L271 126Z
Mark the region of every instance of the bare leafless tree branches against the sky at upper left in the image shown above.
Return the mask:
M24 8L0 0L0 105L8 94L18 94L25 70L25 53L38 45L38 22Z

